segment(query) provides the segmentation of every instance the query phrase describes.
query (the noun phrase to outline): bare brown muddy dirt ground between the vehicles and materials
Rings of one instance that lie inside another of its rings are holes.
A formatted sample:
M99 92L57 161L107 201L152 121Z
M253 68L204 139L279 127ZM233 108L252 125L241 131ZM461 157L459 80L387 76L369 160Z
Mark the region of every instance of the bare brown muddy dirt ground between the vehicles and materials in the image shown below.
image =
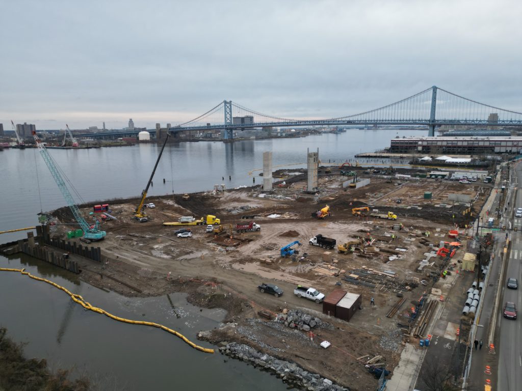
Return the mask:
M117 220L103 223L102 229L107 235L97 243L102 248L104 262L100 265L82 261L81 277L93 285L128 296L188 292L189 301L198 306L228 311L227 322L232 325L213 332L212 341L241 341L272 356L294 361L353 390L374 390L377 381L358 358L382 355L386 369L393 370L404 344L397 324L407 323L405 316L410 302L437 286L433 285L432 277L440 275L445 265L437 256L431 259L432 266L419 272L419 262L425 258L424 253L431 250L430 243L438 247L441 240L448 240L448 229L453 229L455 224L464 226L473 219L470 213L480 209L491 186L425 178L399 181L395 173L372 175L364 173L367 169L350 168L356 170L360 178L371 178L371 184L359 189L343 189L342 181L351 177L339 175L335 168L331 174L324 174L323 168L319 174L322 190L308 194L303 191L305 174L290 177L283 170L277 175L284 185L276 184L270 197L254 187L216 194L190 194L189 200L183 200L181 195L148 198L147 202L155 203L156 208L146 210L150 217L146 223L132 219L139 200L112 201L111 214ZM399 172L414 173L412 170ZM431 200L424 199L425 191L432 192ZM449 202L451 193L470 196L471 210L468 205ZM400 204L396 203L397 199L401 199ZM311 217L326 204L330 206L331 216ZM92 211L92 205L82 205L85 215ZM364 205L380 213L391 211L398 219L352 215L352 207ZM206 214L221 219L224 232L220 239L207 234L205 225L189 227L192 238L177 238L174 231L180 227L162 225L175 222L180 216L199 218ZM243 215L255 215L255 218L241 219ZM66 208L55 211L54 216L60 222L72 220ZM235 233L236 223L249 221L260 224L260 232ZM402 224L402 229L394 230L396 224ZM430 238L424 237L426 229L431 233ZM64 238L66 230L67 226L56 225L52 235ZM227 244L231 234L239 246ZM362 243L353 253L341 254L337 249L309 245L309 239L317 234L335 238L337 244L351 240L362 240ZM359 237L362 239L357 239ZM280 248L294 240L302 243L295 247L299 255L281 258ZM368 246L367 241L370 241ZM458 251L454 260L464 254L464 250ZM354 285L343 279L364 267L389 276L377 274L381 282L374 286ZM262 282L277 284L284 290L283 296L261 294L257 286ZM322 304L294 296L295 285L312 286L326 295L335 288L360 294L362 310L355 312L350 322L329 318L322 313ZM386 314L397 302L397 294L404 295L406 303L395 316L388 318ZM370 306L372 297L375 306ZM314 329L316 336L311 341L307 333L296 333L258 314L265 312L275 316L285 308L301 309L329 326ZM328 349L319 347L323 340L332 345Z

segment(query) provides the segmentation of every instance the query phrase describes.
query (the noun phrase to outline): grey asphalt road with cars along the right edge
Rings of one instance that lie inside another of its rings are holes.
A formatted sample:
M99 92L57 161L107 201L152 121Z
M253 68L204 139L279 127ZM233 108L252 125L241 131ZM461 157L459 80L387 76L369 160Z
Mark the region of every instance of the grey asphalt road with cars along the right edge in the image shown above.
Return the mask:
M522 165L517 164L512 171L512 184L515 186L522 184ZM514 172L513 172L514 171ZM509 200L509 199L508 199ZM517 227L518 231L522 230L522 218L513 217L515 210L522 207L522 194L515 191L514 202L509 205L510 210L506 211L504 218L507 225ZM511 224L509 224L511 223ZM522 388L522 321L520 320L520 308L522 308L522 300L520 288L508 289L507 278L517 278L518 283L522 282L522 237L519 232L511 231L511 251L506 258L505 273L502 279L501 300L499 304L499 312L497 313L498 336L497 355L499 355L499 373L497 377L497 389L502 391L515 391ZM518 310L518 319L505 319L503 316L504 304L506 301L515 303Z

